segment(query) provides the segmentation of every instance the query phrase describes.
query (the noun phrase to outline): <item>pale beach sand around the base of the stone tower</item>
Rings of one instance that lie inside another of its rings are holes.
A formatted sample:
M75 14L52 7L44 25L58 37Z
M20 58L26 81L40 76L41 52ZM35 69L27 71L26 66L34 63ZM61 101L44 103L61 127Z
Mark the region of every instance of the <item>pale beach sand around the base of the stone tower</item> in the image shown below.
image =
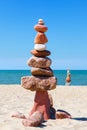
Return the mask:
M24 127L23 119L12 118L14 111L28 116L35 92L20 85L0 85L0 130L87 130L87 86L57 86L49 91L54 108L72 115L72 119L49 119L39 127Z

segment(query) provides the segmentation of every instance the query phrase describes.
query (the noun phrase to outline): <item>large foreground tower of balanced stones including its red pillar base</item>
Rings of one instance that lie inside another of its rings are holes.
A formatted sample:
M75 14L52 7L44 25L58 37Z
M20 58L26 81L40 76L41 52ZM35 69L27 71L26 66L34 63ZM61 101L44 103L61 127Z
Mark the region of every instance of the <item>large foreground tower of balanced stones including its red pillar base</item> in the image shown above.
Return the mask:
M43 114L44 120L50 118L50 100L48 90L56 88L57 79L50 68L52 60L48 58L51 54L46 49L48 39L45 32L48 28L44 25L42 19L39 19L38 24L34 26L37 35L34 39L34 49L31 50L33 55L28 60L28 66L31 66L32 76L25 76L21 79L21 86L31 91L36 91L34 98L34 106L30 111L30 116L40 111Z

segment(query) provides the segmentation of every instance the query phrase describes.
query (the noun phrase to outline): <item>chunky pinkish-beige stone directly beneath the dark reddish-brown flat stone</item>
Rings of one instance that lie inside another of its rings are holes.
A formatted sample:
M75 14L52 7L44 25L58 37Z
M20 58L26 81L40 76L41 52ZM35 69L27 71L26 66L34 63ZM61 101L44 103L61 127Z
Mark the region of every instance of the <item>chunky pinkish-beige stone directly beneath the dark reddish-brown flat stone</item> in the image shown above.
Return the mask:
M36 67L36 68L48 68L50 67L52 61L50 58L48 57L35 57L32 56L29 60L28 60L28 65L31 67Z

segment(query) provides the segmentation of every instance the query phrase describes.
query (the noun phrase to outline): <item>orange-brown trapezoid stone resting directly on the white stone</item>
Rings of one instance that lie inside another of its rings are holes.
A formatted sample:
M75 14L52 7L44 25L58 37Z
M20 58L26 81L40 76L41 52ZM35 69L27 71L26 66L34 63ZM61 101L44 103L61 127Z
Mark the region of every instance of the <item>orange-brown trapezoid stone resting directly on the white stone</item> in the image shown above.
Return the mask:
M48 42L48 39L44 33L38 32L34 39L34 42L37 44L44 44Z

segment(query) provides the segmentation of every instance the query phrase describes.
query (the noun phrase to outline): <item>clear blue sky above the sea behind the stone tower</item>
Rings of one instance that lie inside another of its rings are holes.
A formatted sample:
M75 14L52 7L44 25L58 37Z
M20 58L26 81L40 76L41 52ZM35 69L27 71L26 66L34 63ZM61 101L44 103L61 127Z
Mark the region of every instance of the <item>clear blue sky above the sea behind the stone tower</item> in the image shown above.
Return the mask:
M52 69L87 69L87 0L0 0L0 69L30 69L42 18Z

